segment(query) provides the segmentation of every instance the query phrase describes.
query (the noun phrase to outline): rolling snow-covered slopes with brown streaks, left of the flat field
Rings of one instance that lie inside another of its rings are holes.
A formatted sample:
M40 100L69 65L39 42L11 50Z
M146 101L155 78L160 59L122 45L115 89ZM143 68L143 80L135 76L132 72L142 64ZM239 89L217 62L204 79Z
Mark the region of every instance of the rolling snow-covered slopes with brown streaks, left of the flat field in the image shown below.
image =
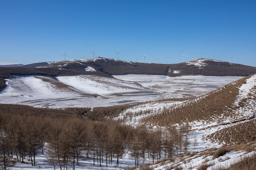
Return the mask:
M34 107L112 106L146 102L160 96L133 82L99 76L13 76L7 81L7 87L0 93L0 103Z

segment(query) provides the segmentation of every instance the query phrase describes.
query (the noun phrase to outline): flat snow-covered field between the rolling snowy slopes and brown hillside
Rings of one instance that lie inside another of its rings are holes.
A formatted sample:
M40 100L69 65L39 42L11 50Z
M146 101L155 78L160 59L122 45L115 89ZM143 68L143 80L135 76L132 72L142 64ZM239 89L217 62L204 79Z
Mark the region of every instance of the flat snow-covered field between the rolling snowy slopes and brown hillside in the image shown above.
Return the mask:
M242 76L160 76L160 75L115 75L115 78L137 82L144 87L169 97L198 96L209 93Z

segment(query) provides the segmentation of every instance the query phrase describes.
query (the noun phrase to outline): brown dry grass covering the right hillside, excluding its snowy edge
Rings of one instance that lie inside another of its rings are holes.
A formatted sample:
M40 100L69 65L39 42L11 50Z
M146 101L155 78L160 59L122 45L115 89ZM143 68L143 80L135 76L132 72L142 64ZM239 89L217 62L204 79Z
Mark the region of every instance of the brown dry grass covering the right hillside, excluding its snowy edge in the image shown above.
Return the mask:
M234 83L225 85L213 92L188 100L187 102L160 113L149 115L144 118L142 122L149 125L168 126L170 122L175 124L184 121L217 120L220 115L235 118L238 115L234 115L232 110L238 108L237 106L233 106L232 103L238 94L238 87L246 83L249 77L250 76L239 79ZM246 103L246 101L244 101L244 103ZM240 103L240 106L242 106L242 104L243 103ZM221 122L222 119L220 119L218 123Z

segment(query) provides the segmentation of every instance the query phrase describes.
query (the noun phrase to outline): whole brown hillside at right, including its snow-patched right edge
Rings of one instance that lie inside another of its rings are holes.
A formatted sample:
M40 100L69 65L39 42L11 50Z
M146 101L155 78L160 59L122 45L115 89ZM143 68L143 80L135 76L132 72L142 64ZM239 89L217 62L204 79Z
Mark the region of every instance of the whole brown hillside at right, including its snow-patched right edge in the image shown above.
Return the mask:
M256 74L213 92L191 99L142 120L148 125L168 126L201 121L217 124L248 119L256 113Z

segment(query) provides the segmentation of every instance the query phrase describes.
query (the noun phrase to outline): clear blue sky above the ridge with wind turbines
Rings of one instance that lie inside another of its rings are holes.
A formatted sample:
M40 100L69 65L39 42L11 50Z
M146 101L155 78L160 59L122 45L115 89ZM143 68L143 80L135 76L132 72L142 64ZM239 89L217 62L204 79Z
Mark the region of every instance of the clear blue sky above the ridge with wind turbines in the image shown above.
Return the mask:
M0 64L96 57L256 66L256 0L0 0Z

